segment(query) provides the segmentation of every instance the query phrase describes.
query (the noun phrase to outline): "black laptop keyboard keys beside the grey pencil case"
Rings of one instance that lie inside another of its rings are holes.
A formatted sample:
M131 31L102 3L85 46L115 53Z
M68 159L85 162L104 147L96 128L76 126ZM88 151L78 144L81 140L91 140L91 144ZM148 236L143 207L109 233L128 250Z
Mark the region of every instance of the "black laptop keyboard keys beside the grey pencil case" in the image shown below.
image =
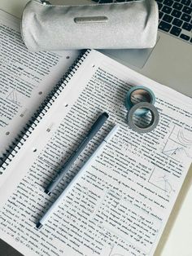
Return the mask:
M110 3L133 0L93 1ZM156 0L156 2L159 7L159 29L192 44L192 0Z

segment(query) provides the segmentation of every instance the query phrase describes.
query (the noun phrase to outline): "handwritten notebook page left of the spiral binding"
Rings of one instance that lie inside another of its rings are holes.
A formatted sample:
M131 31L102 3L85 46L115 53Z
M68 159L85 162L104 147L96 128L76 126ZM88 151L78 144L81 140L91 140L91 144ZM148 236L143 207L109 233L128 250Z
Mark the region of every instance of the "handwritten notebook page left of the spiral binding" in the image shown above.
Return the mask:
M78 54L29 52L20 20L0 10L0 157Z

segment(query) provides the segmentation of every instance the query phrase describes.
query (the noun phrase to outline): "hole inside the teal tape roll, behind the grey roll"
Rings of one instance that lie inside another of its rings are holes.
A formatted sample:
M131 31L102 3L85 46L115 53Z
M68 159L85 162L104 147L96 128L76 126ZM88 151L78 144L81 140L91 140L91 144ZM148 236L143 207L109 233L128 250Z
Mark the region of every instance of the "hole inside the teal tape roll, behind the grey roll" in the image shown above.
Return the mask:
M130 101L133 105L143 101L151 103L151 94L144 89L133 90L132 94L130 95Z

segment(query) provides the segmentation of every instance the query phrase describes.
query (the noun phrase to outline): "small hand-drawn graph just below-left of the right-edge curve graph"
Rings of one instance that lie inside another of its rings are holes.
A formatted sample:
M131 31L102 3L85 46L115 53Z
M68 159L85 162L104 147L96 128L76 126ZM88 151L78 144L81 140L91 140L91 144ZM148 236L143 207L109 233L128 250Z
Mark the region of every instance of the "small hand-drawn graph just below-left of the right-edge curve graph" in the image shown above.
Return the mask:
M172 186L174 181L171 179L170 174L160 168L155 167L149 182L155 185L155 187L162 189L166 194L170 194L175 191Z

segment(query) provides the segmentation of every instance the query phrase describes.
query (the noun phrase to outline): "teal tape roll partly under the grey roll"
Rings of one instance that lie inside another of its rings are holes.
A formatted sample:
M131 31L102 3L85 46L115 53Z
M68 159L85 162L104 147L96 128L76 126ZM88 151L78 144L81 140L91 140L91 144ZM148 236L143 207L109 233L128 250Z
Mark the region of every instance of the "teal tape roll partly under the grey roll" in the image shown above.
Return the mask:
M152 92L152 90L150 90L149 88L147 88L145 86L133 86L128 91L128 93L125 97L125 101L124 101L124 105L128 110L130 110L134 106L134 103L132 101L133 95L135 95L136 98L137 98L137 95L144 98L145 100L142 100L142 102L148 102L148 103L151 103L151 104L155 104L155 94ZM143 109L138 109L135 114L137 116L143 116L146 113L148 113L148 110L143 108Z

